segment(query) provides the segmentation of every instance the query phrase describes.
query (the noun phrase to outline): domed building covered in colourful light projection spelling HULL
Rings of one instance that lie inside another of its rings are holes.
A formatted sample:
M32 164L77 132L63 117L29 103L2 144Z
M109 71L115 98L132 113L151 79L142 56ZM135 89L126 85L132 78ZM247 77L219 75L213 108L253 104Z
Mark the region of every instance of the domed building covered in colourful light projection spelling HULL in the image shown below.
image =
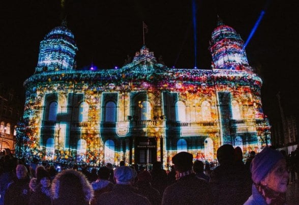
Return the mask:
M143 45L117 69L75 70L77 47L66 24L40 45L34 75L25 82L24 123L16 151L40 160L172 164L178 152L216 159L224 143L244 155L270 145L262 112L262 81L248 65L244 42L218 23L211 70L173 69Z

